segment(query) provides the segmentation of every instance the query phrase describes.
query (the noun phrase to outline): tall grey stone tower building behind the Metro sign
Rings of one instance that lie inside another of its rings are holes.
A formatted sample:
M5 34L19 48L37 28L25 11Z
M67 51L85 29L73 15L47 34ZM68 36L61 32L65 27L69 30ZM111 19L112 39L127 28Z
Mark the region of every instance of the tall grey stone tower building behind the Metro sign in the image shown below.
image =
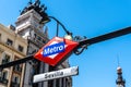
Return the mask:
M29 4L29 7L37 8L37 3ZM49 39L47 28L44 30L44 24L39 24L41 16L35 9L24 9L16 21L16 33L24 39L27 39L27 54L37 52ZM31 60L26 63L24 87L33 87L33 75L48 72L48 65L37 60ZM46 83L44 83L45 87ZM36 87L41 84L35 85Z

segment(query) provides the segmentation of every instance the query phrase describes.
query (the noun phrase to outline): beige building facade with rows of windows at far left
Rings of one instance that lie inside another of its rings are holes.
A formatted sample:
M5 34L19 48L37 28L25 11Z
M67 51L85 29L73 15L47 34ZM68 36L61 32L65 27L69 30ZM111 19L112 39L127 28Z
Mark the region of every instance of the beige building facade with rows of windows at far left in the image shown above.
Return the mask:
M0 24L0 64L26 57L27 40L15 34L15 27ZM25 64L1 70L0 87L22 87Z

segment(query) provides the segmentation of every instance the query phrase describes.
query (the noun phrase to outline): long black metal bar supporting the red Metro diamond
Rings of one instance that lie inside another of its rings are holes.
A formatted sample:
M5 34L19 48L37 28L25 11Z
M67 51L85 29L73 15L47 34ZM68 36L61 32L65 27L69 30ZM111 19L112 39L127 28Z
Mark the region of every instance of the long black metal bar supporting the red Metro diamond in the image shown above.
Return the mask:
M76 49L74 49L74 51L75 51L76 54L80 54L90 45L97 44L97 42L100 42L100 41L105 41L105 40L108 40L108 39L112 39L112 38L123 36L123 35L130 34L130 33L131 33L131 27L127 27L127 28L116 30L116 32L112 32L112 33L109 33L109 34L105 34L105 35L102 35L102 36L98 36L98 37L94 37L94 38L91 38L91 39L85 39L84 38L84 40L79 41L79 46L76 47ZM83 48L83 49L79 50L80 48ZM10 67L10 66L13 66L13 65L16 65L16 64L24 63L24 62L26 62L28 60L32 60L32 59L34 59L34 57L28 55L28 57L23 58L21 60L12 61L12 62L2 64L2 65L0 65L0 70L5 69L5 67Z

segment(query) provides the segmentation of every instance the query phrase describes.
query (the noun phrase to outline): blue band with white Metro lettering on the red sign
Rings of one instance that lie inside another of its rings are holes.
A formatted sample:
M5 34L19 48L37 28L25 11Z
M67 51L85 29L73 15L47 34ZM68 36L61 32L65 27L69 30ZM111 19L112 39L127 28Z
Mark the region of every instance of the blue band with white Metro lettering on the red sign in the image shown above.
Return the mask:
M59 44L47 46L43 50L43 55L48 57L48 55L51 55L51 54L63 52L64 51L64 45L66 45L64 42L59 42Z

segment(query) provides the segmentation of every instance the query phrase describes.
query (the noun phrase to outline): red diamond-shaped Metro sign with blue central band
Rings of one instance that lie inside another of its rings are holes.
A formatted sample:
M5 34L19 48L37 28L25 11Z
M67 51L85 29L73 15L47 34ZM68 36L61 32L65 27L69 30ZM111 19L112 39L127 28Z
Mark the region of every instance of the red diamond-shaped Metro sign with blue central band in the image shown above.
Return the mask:
M66 60L78 45L75 41L55 37L34 58L55 66Z

